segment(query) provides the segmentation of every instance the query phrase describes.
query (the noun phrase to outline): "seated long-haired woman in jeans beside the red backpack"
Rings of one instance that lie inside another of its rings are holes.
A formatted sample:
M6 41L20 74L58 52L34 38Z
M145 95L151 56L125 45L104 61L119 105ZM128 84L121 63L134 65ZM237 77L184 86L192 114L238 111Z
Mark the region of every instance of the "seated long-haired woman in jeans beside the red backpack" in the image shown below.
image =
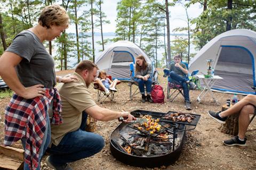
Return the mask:
M146 100L149 101L149 103L153 103L150 96L152 90L152 70L152 65L146 62L143 55L138 55L136 57L134 81L137 81L139 84L142 103L145 103ZM147 96L145 96L144 85L146 86Z

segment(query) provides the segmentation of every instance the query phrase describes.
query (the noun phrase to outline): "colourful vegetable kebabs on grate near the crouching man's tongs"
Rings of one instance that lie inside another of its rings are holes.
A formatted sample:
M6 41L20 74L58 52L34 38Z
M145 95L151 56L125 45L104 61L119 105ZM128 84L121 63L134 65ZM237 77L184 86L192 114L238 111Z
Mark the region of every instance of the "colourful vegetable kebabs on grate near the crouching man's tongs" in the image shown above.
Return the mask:
M147 122L143 123L142 125L139 123L135 123L133 127L138 128L140 131L146 130L150 134L160 131L161 125L158 124L159 118L152 118L151 115L141 115L140 118L146 118Z

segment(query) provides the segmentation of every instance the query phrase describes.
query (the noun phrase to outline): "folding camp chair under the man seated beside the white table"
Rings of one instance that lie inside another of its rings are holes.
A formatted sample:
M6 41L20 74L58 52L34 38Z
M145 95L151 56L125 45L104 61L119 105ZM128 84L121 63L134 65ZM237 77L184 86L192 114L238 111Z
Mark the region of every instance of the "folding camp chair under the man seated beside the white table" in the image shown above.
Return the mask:
M187 63L182 62L187 66ZM191 80L194 78L194 75L198 73L198 70L193 71L190 75L187 75L188 80ZM168 83L167 83L167 99L170 99L172 102L179 94L181 94L184 97L183 89L181 84L179 82L172 80L170 77L170 70L164 69L164 77L167 77ZM190 79L189 79L190 77ZM171 89L174 89L174 91L171 93ZM172 98L173 97L173 98Z

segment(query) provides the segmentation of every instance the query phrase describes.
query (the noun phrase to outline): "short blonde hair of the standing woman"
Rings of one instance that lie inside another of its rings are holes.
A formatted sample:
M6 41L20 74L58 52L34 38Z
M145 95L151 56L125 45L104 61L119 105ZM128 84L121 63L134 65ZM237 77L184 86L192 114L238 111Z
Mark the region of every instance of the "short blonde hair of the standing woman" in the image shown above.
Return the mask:
M38 23L47 29L51 25L65 26L69 23L69 16L65 8L54 4L43 8Z

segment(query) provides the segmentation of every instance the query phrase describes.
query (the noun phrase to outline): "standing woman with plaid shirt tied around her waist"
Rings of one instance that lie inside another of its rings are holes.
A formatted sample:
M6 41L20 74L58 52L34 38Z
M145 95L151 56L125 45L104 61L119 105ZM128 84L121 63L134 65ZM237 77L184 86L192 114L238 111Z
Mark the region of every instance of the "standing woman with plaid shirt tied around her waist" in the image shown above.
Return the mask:
M43 41L60 37L68 27L69 16L59 5L46 6L38 24L20 32L0 58L0 75L14 91L5 109L4 145L21 140L25 149L24 169L40 169L41 158L51 140L51 122L62 122L61 102L56 82L71 82L76 77L55 76L54 60Z

